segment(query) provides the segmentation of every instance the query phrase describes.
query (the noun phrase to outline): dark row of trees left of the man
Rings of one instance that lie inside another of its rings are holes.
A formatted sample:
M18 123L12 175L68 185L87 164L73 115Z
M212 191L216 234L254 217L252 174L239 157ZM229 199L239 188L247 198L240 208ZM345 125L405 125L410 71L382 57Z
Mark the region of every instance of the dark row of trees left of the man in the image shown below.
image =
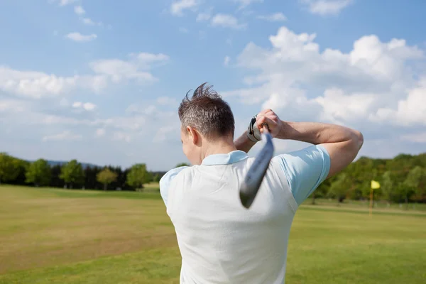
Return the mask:
M91 190L141 190L148 182L158 182L164 172L151 172L146 164L131 168L83 166L77 160L50 165L47 160L28 162L0 153L0 184L45 187L87 188Z

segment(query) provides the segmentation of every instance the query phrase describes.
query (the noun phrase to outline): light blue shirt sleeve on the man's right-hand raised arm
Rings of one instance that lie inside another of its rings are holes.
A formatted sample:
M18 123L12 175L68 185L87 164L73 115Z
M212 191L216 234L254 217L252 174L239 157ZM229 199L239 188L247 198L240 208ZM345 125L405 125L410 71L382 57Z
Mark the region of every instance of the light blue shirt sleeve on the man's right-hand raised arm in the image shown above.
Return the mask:
M278 155L274 159L284 171L298 205L317 189L330 170L329 153L320 145Z

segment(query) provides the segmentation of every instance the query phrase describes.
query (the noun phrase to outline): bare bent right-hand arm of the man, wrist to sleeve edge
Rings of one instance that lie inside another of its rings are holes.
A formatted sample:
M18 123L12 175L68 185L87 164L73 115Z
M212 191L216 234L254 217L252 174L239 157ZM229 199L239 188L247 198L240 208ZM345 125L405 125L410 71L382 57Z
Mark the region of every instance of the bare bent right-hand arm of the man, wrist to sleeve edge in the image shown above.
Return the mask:
M266 119L266 122L269 122ZM327 178L346 168L358 155L364 138L361 132L335 124L280 121L276 138L297 140L323 146L330 157ZM263 122L258 121L258 124Z

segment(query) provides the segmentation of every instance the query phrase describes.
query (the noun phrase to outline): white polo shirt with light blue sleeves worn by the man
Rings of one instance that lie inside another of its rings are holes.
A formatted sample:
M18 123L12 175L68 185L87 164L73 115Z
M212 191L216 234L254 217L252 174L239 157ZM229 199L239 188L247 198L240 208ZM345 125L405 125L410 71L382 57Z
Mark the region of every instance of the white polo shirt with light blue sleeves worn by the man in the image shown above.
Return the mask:
M182 256L180 283L285 282L290 227L299 204L327 178L322 146L277 155L250 209L239 186L254 158L243 151L209 155L170 170L160 193Z

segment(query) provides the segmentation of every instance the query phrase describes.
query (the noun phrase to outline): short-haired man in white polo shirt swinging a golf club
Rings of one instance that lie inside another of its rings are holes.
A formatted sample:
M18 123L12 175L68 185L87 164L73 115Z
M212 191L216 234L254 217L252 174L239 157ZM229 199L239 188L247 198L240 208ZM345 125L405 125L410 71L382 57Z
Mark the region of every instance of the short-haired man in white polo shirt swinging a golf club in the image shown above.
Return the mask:
M356 158L363 136L344 126L281 121L266 109L234 141L232 111L205 83L183 99L178 112L183 153L192 166L166 173L160 192L182 255L180 283L284 283L297 207ZM246 209L239 186L263 123L274 138L313 145L276 155Z

